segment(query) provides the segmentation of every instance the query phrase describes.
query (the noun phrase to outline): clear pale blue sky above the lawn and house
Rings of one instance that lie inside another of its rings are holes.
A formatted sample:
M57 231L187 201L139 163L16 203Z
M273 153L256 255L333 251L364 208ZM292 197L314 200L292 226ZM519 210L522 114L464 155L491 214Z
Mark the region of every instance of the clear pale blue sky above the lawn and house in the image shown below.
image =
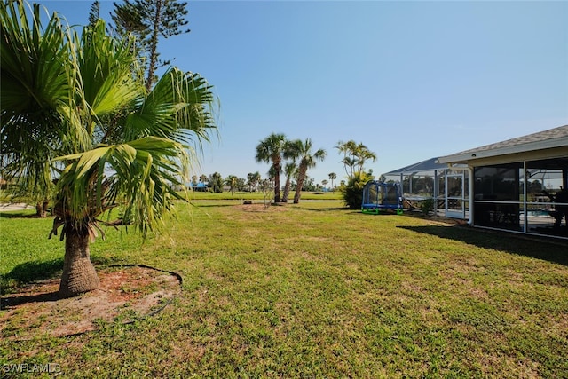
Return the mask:
M85 24L91 1L43 1ZM113 3L103 1L109 19ZM193 1L191 33L163 59L220 99L201 170L265 176L272 132L327 150L308 175L345 171L334 146L363 142L375 175L568 124L568 2Z

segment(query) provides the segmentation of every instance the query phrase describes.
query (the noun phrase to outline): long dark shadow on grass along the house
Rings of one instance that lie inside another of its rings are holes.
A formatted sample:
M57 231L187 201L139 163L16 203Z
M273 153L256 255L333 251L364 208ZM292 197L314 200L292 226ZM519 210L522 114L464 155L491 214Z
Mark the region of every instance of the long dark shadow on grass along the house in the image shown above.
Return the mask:
M533 257L568 266L568 242L547 241L544 238L514 233L500 233L460 225L397 226L416 233L436 235L461 241L484 249L496 249L509 254Z

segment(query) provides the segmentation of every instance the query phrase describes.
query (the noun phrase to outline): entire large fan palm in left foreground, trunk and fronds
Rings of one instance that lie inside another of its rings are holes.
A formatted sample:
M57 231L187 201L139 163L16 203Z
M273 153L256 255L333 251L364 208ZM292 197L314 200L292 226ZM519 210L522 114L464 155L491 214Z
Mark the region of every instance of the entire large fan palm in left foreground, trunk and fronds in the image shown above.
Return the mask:
M21 188L54 186L51 235L65 240L62 297L99 288L90 242L110 209L146 236L181 196L195 149L217 130L213 95L200 75L171 68L146 91L132 40L106 34L98 20L83 33L57 14L42 28L22 0L2 2L3 174ZM194 145L193 145L194 144Z

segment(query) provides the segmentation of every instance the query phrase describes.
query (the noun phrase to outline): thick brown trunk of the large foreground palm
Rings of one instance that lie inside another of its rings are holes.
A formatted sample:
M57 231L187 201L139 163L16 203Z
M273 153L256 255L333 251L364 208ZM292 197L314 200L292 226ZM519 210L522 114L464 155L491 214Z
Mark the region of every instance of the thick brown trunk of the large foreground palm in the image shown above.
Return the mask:
M73 297L99 288L99 276L91 264L89 233L67 227L65 260L59 284L59 297Z

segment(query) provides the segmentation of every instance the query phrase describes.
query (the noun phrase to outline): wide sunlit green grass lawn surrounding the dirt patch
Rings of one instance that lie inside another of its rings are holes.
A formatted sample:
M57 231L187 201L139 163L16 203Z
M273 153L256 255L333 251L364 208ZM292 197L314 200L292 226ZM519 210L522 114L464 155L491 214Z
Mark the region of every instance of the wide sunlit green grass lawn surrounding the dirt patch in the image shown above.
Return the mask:
M342 201L193 204L146 243L108 230L91 245L99 268L180 273L173 304L80 336L3 338L0 364L57 363L82 378L568 375L565 243ZM4 288L59 275L50 226L0 216Z

